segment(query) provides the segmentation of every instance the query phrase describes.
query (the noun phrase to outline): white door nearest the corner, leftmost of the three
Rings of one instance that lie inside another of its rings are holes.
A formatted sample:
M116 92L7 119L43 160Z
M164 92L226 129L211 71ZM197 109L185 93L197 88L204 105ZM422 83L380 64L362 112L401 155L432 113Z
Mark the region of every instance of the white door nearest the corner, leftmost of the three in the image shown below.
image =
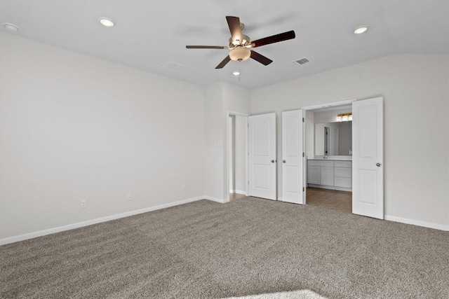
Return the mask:
M248 117L249 196L276 200L276 113Z

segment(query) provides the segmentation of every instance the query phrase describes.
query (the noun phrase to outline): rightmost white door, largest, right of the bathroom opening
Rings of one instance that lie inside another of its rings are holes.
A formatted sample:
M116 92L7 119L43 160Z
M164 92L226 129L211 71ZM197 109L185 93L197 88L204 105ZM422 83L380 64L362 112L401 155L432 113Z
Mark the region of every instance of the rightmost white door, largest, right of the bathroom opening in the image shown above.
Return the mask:
M384 218L383 99L352 103L352 212Z

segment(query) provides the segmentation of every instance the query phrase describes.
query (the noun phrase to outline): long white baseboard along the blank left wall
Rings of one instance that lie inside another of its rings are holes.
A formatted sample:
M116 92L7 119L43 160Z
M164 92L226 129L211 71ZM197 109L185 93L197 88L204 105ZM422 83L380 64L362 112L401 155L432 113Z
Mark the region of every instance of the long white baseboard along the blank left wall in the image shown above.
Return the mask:
M65 230L73 230L74 228L82 228L83 226L87 226L87 225L93 225L96 223L111 221L111 220L128 217L128 216L133 216L133 215L137 215L137 214L142 214L142 213L146 213L147 211L156 211L158 209L175 207L180 204L187 204L188 202L196 202L197 200L205 200L205 199L209 199L209 198L207 196L194 197L194 198L189 198L187 200L179 200L177 202L169 202L168 204L159 204L154 207L148 207L145 209L138 209L138 210L134 210L134 211L127 211L125 213L115 214L115 215L111 215L111 216L105 216L105 217L96 218L96 219L83 221L83 222L79 222L79 223L62 225L62 226L58 226L57 228L49 228L48 230L39 230L38 232L29 232L25 235L18 235L18 236L14 236L14 237L7 237L4 239L0 239L0 245L24 241L26 239L33 239L35 237L42 237L45 235L51 235L51 234L54 234L55 232L63 232ZM216 200L214 200L214 201L216 201Z

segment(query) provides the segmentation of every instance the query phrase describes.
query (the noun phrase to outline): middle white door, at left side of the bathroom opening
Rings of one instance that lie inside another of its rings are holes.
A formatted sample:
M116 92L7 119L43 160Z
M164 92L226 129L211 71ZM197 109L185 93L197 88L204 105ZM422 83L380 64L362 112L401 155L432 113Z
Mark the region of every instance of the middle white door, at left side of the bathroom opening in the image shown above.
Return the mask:
M304 204L302 110L282 113L282 200Z

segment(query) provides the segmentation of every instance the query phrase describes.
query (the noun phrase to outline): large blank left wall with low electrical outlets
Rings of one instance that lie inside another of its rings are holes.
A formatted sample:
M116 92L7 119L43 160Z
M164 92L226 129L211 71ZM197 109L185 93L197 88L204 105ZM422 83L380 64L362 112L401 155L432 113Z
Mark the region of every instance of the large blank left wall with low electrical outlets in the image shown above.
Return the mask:
M203 195L203 88L0 45L0 239Z

